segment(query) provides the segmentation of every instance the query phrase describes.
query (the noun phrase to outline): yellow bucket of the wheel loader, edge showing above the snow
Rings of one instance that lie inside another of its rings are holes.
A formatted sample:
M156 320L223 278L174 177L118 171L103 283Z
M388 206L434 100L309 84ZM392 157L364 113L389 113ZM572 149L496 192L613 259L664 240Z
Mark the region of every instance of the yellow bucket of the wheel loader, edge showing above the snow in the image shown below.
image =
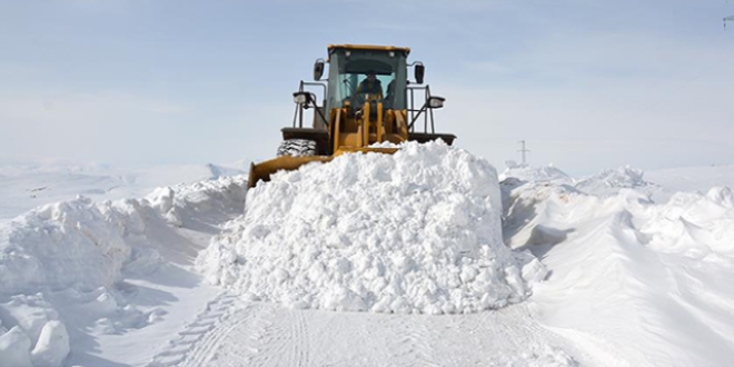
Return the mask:
M386 153L386 155L391 155L398 151L397 148L370 148L370 147L365 147L365 148L343 148L341 150L337 151L334 156L308 156L308 157L290 157L290 156L281 156L275 159L270 159L267 161L264 161L261 163L250 165L250 175L247 181L247 187L252 188L257 185L258 181L269 181L270 180L270 175L279 171L279 170L288 170L292 171L298 169L298 167L304 166L306 163L310 162L328 162L334 157L343 155L345 152L379 152L379 153Z

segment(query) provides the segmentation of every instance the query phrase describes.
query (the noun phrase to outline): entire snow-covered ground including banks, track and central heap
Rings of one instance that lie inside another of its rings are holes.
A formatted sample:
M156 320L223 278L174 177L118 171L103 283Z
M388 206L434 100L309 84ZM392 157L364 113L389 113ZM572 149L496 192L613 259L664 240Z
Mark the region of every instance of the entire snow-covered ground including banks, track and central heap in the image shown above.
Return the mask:
M732 167L7 166L0 366L727 366Z

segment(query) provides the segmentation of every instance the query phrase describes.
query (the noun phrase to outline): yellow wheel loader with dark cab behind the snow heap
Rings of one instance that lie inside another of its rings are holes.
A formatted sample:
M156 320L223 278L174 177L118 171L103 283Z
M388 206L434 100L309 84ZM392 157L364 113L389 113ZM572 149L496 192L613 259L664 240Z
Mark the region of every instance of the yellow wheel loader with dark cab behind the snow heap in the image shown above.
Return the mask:
M278 157L250 165L249 187L268 181L279 170L295 170L313 161L327 162L345 152L394 153L378 142L426 142L456 137L436 133L434 109L445 99L424 86L425 67L408 63L410 49L393 46L329 44L328 58L314 63L313 82L300 82L294 93L292 126L282 128ZM323 79L328 63L328 77ZM413 80L408 70L413 68ZM314 90L323 92L323 98ZM320 103L319 103L320 102ZM304 115L313 109L311 127ZM423 129L419 126L423 125Z

